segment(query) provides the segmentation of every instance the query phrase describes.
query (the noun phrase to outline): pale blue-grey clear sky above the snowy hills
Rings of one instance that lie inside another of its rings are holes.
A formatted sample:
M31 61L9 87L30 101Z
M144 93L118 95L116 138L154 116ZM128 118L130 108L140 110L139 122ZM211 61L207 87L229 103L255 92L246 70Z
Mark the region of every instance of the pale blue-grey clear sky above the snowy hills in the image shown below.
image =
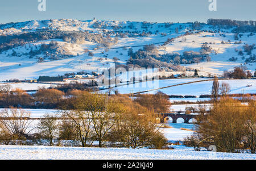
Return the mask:
M255 0L1 0L0 23L36 19L207 22L207 19L256 20ZM211 2L217 11L210 11Z

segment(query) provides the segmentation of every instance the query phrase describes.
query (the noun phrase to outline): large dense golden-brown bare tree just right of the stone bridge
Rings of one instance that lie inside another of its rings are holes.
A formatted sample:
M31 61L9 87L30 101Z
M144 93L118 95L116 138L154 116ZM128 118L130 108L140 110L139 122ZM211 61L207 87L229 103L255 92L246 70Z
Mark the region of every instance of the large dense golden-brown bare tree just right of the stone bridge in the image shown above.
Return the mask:
M201 143L215 145L219 152L240 152L246 115L241 102L223 98L214 103L206 117L200 116L197 130Z

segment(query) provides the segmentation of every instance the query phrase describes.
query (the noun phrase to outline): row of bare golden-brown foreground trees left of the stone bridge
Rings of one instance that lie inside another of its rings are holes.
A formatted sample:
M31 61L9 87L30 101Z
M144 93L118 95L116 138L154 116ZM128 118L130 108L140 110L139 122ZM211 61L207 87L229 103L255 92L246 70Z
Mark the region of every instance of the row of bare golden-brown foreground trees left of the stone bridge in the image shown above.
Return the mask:
M1 111L0 143L159 149L167 143L153 110L126 95L73 92L62 109L39 120L22 109Z

